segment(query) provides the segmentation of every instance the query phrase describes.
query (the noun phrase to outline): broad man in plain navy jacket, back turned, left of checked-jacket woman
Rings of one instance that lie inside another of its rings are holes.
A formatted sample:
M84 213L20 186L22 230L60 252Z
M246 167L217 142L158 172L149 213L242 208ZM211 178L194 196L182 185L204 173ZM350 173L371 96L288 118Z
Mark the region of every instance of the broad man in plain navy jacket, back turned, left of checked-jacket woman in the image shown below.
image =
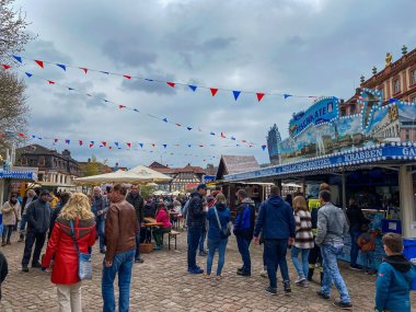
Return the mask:
M270 294L277 292L276 269L280 265L286 292L290 292L290 279L286 253L288 244L294 242L294 217L289 204L280 196L280 189L271 186L270 198L264 201L258 211L256 228L254 230L255 242L259 242L259 233L263 230L265 259L270 286L266 291Z

